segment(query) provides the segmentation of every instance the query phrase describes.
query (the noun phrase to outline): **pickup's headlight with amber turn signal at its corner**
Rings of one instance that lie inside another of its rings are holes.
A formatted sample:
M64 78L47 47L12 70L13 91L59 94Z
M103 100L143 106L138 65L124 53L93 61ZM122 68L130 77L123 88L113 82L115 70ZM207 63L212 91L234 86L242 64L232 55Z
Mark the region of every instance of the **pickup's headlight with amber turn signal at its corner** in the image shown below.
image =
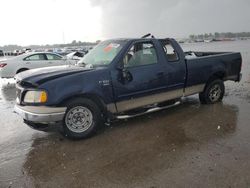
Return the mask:
M28 91L24 96L25 103L45 103L47 99L45 91Z

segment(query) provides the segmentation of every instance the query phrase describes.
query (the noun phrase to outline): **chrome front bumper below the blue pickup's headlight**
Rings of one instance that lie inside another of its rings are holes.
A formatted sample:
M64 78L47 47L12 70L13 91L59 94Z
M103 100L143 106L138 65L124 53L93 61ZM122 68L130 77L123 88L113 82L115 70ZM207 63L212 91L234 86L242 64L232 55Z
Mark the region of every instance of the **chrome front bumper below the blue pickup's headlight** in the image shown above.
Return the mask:
M14 111L27 121L34 123L54 123L63 120L66 107L15 105Z

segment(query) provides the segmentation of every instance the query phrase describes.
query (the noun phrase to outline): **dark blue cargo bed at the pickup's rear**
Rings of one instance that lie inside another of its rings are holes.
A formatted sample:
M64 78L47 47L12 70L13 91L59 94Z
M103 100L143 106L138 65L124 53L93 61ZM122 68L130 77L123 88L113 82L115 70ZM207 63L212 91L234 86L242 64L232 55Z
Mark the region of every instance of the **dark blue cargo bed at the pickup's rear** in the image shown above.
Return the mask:
M185 52L186 87L206 83L211 75L223 80L240 80L242 58L232 52Z

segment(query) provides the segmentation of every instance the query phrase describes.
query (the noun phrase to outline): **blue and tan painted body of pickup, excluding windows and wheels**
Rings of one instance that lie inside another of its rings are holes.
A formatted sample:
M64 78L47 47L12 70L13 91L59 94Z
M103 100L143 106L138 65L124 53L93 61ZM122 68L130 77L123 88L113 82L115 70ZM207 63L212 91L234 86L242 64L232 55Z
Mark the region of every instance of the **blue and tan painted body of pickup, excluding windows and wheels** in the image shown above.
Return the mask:
M97 102L104 111L119 114L202 92L209 79L215 76L225 81L240 80L240 53L192 52L196 57L186 58L187 53L174 39L117 40L122 40L125 45L108 66L64 66L19 74L16 77L18 88L22 88L19 105L32 106L23 102L25 92L42 89L48 93L48 101L42 106L65 107L66 101L83 96ZM177 61L168 61L161 43L164 40L170 42L178 53ZM123 57L135 42L142 41L154 44L158 63L126 68L132 80L124 83L120 69Z

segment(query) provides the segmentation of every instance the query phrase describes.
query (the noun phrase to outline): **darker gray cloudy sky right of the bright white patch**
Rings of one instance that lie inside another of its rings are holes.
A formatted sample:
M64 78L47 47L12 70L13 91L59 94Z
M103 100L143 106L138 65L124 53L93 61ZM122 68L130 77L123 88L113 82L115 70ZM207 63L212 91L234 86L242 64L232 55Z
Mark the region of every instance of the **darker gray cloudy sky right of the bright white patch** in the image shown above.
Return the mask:
M249 0L95 0L92 4L101 7L107 37L250 31Z

